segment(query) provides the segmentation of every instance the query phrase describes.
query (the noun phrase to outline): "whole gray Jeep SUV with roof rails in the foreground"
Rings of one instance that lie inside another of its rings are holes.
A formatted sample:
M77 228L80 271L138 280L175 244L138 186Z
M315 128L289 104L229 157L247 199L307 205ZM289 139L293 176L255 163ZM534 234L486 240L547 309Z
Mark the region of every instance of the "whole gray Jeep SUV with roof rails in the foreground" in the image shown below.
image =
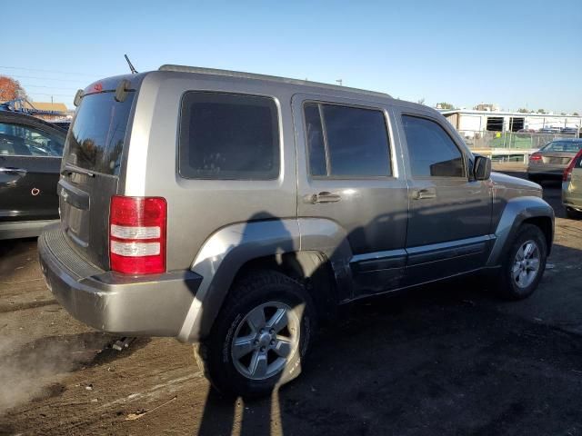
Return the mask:
M540 186L426 105L174 65L75 101L48 287L99 330L195 342L219 391L294 379L340 304L475 272L522 299L542 278Z

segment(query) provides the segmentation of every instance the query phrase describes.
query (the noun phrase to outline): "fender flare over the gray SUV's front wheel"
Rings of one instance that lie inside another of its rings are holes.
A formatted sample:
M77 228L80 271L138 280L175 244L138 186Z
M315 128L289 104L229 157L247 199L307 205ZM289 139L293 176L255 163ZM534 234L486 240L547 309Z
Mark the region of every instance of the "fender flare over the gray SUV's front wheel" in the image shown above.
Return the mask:
M487 266L498 266L503 258L503 254L513 241L517 229L530 218L547 218L551 220L551 234L548 237L547 251L551 249L551 242L554 240L554 209L546 201L539 197L527 196L512 198L506 204L501 213L499 223L495 231L496 242L489 253Z

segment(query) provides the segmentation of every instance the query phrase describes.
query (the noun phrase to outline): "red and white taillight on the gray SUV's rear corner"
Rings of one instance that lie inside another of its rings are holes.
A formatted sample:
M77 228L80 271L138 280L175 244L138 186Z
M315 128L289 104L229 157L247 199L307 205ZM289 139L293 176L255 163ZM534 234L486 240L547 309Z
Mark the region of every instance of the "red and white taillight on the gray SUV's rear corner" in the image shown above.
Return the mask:
M111 197L111 269L125 274L166 272L166 216L164 198Z

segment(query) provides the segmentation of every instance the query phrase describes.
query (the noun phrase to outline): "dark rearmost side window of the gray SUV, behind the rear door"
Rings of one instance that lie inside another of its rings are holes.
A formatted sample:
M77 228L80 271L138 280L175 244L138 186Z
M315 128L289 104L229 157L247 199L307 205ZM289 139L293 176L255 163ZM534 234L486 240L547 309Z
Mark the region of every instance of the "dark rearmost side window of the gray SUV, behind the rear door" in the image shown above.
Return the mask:
M180 175L192 179L276 179L277 120L272 98L186 93L180 125Z

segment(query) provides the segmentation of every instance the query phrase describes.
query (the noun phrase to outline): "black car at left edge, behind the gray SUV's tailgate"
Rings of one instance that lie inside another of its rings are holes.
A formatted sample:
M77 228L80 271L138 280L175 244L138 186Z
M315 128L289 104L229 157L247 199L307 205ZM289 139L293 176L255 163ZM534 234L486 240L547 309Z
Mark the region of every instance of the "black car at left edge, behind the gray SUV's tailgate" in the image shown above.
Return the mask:
M65 135L33 116L0 111L0 240L38 236L58 220Z

